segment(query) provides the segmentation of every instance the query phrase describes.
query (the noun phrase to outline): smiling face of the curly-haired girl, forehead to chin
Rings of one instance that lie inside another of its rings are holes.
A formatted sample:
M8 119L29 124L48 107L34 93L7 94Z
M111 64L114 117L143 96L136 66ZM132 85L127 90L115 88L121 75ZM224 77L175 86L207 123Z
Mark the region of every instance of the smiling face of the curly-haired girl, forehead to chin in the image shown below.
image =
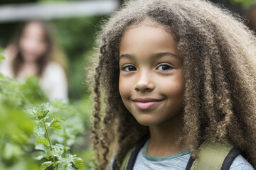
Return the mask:
M119 93L140 124L159 125L181 114L182 59L173 35L154 26L130 28L119 54Z

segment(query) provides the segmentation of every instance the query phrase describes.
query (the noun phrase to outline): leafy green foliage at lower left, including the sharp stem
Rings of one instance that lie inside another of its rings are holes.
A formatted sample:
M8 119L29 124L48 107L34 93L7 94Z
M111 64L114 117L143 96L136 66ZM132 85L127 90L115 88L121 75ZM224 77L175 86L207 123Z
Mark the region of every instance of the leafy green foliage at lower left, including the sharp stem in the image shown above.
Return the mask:
M1 55L0 60L4 60ZM0 74L0 108L0 169L60 170L91 166L87 164L91 164L92 157L87 157L84 165L73 154L78 151L82 154L87 150L84 146L89 146L84 123L88 122L85 118L89 118L90 112L68 103L48 101L36 77L22 84Z

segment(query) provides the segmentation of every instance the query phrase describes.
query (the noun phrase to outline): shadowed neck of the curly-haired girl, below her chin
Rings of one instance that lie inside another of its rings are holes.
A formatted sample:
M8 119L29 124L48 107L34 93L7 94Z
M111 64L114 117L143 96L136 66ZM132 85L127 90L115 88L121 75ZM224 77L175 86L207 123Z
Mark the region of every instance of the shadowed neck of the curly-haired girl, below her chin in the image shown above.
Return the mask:
M181 147L177 146L177 141L181 134L181 121L182 115L178 114L160 125L150 126L150 140L147 154L164 157L188 149L185 145Z

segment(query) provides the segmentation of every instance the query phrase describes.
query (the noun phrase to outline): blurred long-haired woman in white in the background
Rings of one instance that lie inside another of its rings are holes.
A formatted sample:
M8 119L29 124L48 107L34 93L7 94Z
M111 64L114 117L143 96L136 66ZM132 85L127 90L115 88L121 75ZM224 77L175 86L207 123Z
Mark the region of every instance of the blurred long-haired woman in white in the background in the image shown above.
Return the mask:
M50 100L68 101L67 78L63 67L58 64L64 60L53 61L63 57L57 49L48 23L28 21L18 29L14 39L6 47L6 60L1 64L0 72L18 81L37 76Z

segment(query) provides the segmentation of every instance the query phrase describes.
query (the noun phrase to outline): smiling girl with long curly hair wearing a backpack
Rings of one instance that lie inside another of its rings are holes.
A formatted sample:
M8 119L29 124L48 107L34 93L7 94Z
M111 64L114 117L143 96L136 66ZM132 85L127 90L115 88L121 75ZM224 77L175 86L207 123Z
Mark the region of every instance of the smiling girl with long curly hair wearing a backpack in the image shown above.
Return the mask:
M208 1L128 1L98 45L97 169L256 167L256 38L239 18Z

